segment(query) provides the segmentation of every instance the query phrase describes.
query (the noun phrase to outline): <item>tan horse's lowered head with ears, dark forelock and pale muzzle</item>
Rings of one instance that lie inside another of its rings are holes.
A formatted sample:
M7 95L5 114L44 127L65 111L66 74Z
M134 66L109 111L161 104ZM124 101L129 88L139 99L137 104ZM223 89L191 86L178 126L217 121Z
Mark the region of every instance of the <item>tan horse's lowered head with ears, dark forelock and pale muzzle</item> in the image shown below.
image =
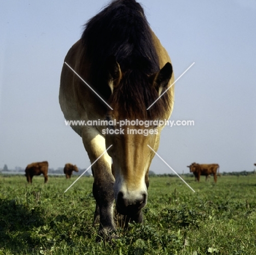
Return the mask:
M109 104L113 110L107 113L110 124L106 129L106 147L112 145L108 154L113 161L117 210L120 214L132 215L147 203L148 171L154 157L149 146L155 151L158 149L164 126L159 126L158 121L170 117L171 90L152 108L147 108L170 84L172 66L167 63L152 75L137 71L122 73L115 60L108 66L108 84L112 91Z

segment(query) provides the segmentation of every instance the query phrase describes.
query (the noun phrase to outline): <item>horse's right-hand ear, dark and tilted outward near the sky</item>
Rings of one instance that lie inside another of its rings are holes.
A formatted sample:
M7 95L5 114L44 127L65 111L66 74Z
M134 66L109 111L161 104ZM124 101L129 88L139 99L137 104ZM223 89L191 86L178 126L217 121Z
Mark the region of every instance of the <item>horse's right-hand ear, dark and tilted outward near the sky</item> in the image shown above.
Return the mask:
M154 74L153 85L158 91L159 96L163 88L167 88L168 83L172 77L172 64L167 62L165 66L156 74Z

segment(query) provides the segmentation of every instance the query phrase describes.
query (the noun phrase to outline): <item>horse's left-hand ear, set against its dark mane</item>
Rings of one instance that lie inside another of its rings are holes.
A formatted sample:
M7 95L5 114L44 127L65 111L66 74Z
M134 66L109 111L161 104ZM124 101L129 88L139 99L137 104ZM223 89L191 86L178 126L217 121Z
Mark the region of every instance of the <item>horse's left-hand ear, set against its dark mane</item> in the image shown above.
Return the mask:
M113 93L114 88L117 87L122 78L122 73L118 62L115 60L114 56L110 56L106 61L107 68L107 79L108 86L110 87L111 92Z

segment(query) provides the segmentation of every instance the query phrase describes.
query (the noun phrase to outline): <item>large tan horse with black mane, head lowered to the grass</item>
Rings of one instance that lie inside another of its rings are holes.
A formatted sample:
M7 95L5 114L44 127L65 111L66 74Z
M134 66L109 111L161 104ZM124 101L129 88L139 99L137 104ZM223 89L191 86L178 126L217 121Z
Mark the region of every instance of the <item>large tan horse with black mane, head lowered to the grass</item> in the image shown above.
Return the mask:
M113 1L92 17L66 55L59 102L66 120L84 121L71 127L91 163L98 159L92 165L97 240L115 230L114 201L125 226L142 222L152 149L164 127L158 121L171 116L173 82L170 57L135 0Z

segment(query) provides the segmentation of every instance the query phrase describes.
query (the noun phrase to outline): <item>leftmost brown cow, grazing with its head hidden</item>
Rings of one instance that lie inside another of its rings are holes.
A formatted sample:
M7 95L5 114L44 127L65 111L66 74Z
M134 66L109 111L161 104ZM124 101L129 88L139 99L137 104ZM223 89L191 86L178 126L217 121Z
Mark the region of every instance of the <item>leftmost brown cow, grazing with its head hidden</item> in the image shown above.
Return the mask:
M34 175L44 175L44 183L48 182L48 162L36 162L27 165L25 169L25 176L27 177L28 183L32 183L32 177Z

